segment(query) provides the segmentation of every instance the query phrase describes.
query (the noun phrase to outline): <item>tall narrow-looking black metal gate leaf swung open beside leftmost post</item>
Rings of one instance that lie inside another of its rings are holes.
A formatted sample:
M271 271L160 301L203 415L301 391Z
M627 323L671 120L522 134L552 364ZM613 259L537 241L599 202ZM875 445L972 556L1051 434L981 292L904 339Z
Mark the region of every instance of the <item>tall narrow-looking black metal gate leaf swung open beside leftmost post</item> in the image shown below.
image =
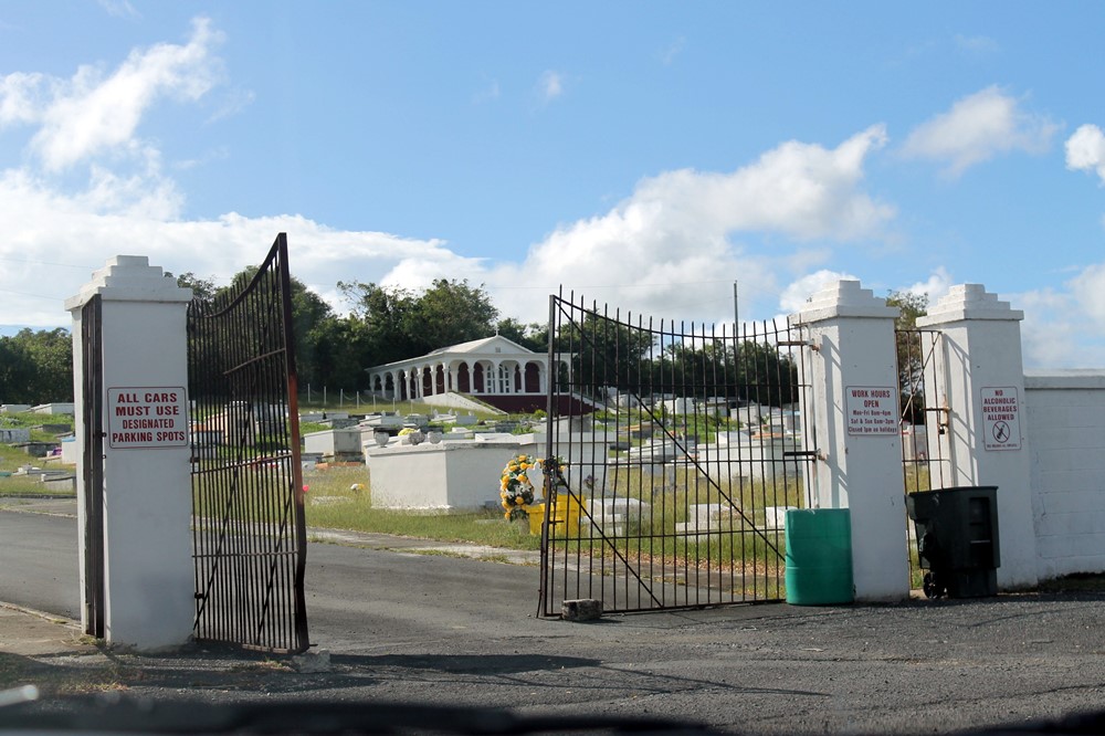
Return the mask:
M287 239L188 309L196 637L307 649L306 522Z

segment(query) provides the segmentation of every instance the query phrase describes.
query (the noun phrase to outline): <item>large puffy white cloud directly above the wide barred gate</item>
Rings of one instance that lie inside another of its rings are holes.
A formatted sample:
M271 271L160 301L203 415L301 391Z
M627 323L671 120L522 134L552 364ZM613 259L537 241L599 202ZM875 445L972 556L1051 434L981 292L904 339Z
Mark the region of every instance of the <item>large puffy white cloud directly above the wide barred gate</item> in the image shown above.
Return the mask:
M794 260L791 248L751 256L734 245L740 232L777 233L799 241L878 239L894 208L862 191L863 165L885 143L882 126L834 149L788 141L732 174L670 171L641 181L606 214L561 225L530 249L520 266L492 270L493 284L608 286L603 296L634 312L674 316L687 293L716 284L715 318L732 315L732 282L743 299L776 293L776 272ZM797 261L804 261L798 257ZM697 287L695 286L697 285ZM496 294L498 298L498 294ZM516 295L503 293L502 298ZM524 319L540 318L529 305ZM512 312L519 314L520 309Z

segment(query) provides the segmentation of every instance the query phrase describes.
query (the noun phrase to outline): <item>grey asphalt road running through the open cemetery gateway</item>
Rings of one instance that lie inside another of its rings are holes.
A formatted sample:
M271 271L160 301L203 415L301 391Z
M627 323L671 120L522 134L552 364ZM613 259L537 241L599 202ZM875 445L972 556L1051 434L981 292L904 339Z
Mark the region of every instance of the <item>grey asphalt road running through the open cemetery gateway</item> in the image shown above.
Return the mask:
M74 521L0 512L0 600L72 616ZM308 560L312 640L329 653L329 671L266 674L251 688L200 688L192 675L193 690L664 715L750 734L949 733L1105 708L1099 593L746 606L579 624L534 617L533 567L332 544L312 545ZM202 656L138 658L144 674L131 687L157 692L169 682L158 673L215 666Z

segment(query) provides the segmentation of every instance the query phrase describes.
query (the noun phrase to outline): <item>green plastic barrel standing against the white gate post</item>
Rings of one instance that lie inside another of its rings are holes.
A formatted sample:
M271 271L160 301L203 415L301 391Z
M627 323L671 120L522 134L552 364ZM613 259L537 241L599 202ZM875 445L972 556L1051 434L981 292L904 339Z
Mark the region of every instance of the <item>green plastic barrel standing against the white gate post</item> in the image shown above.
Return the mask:
M846 508L787 512L787 602L851 603L852 517Z

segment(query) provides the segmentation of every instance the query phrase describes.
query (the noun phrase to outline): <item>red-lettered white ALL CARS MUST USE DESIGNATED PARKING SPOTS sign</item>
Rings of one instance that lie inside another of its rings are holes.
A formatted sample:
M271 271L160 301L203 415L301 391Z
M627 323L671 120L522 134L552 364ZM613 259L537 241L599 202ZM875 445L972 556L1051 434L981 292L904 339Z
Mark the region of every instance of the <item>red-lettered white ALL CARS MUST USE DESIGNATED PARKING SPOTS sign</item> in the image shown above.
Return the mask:
M107 389L107 444L114 450L188 445L182 386Z

